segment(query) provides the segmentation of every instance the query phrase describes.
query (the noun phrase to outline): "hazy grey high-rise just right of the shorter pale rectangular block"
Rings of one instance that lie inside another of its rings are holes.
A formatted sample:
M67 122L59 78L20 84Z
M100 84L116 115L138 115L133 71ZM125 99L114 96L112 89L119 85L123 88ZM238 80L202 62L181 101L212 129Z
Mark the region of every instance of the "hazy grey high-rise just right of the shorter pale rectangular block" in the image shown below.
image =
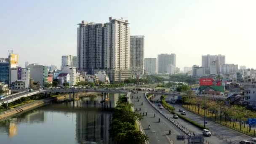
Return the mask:
M168 73L167 67L172 64L176 68L176 54L159 54L157 57L158 74ZM174 70L175 71L175 70Z

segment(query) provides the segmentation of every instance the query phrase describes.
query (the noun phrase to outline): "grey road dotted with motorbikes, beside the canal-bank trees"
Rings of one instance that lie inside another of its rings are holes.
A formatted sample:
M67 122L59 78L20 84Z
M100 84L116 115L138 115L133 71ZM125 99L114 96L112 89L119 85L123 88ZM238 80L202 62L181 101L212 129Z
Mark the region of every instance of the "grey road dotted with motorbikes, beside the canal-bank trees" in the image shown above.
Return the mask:
M144 128L145 134L149 137L150 144L184 144L184 141L176 141L177 135L185 135L182 131L180 131L176 126L174 126L171 122L169 122L165 117L163 117L159 112L157 112L146 100L144 97L144 93L132 93L133 99L131 99L134 104L134 109L141 108L142 112L147 112L147 116L144 116L142 120L140 120L142 127ZM137 96L141 96L138 99ZM141 105L143 102L143 105ZM155 114L155 117L154 117ZM158 123L158 118L160 118L161 122ZM148 129L148 125L151 125L150 130ZM167 135L168 131L171 130L171 136ZM172 142L171 142L172 141Z

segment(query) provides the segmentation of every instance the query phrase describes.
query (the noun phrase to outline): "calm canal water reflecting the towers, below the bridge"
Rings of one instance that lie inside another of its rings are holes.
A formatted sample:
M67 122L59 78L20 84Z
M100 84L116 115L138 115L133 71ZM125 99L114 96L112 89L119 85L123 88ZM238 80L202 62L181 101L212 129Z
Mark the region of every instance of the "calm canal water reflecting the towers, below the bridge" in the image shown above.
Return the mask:
M0 144L112 144L111 108L119 94L49 104L0 122Z

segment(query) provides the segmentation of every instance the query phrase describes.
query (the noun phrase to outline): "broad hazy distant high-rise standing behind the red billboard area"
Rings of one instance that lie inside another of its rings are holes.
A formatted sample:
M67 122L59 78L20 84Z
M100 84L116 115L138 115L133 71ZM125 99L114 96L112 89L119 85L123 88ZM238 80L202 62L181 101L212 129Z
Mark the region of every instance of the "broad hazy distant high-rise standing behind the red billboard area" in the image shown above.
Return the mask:
M219 65L225 64L226 56L223 55L205 55L202 56L202 67L210 68L211 74L219 73Z

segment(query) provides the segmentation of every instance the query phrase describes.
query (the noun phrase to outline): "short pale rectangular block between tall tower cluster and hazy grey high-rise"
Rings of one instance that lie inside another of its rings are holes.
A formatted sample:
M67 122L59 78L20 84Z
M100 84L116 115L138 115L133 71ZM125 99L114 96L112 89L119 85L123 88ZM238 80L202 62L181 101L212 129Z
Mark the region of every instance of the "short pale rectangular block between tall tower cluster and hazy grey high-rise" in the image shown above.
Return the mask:
M145 73L147 75L157 74L157 59L156 58L145 58Z

